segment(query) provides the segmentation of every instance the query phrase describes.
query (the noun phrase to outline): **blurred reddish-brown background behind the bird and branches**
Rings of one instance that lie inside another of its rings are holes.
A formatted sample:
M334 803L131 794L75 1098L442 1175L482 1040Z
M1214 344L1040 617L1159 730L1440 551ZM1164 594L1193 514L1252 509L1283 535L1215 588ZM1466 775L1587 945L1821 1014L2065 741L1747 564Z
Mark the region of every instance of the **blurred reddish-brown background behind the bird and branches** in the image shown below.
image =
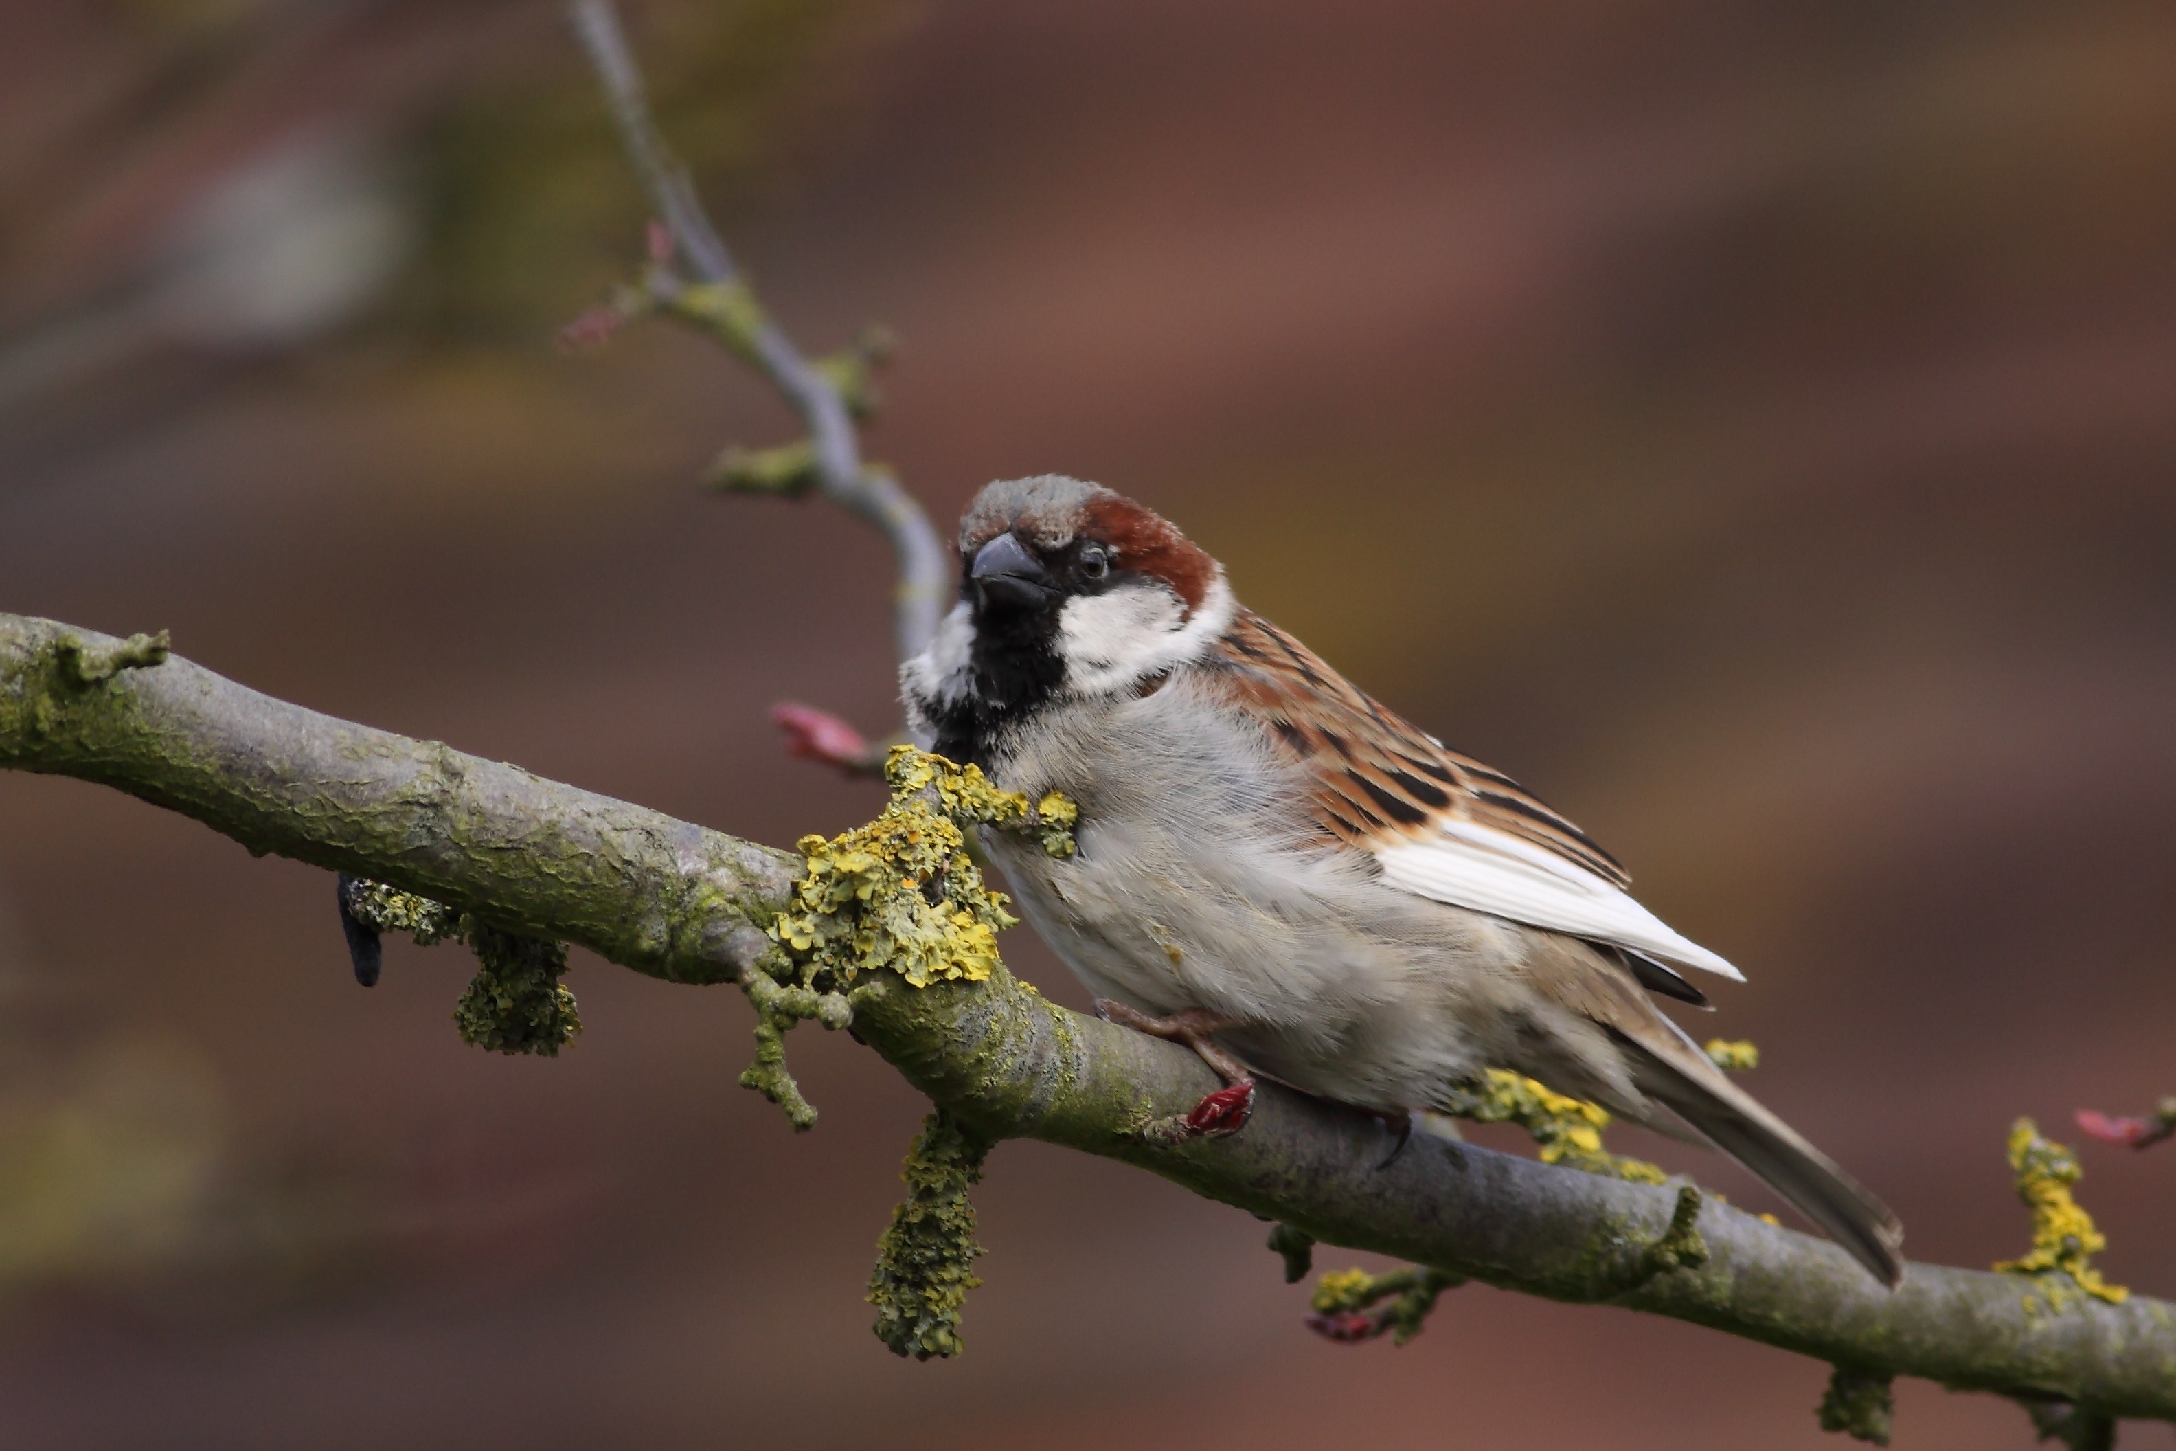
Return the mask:
M772 307L901 335L870 446L947 524L1138 494L1536 785L1747 966L1693 1029L1915 1255L2022 1249L2015 1114L2176 1090L2167 4L631 20ZM698 339L551 348L642 222L546 0L11 0L0 609L864 820L764 707L888 727L881 544L698 494L790 435ZM483 1055L453 948L359 992L324 875L67 781L0 777L0 920L9 1447L1826 1444L1823 1366L1608 1310L1323 1344L1262 1225L1036 1144L966 1355L897 1362L860 1294L923 1105L844 1040L792 1042L807 1138L733 992L577 962L568 1055ZM2176 1149L2082 1153L2111 1277L2176 1292ZM2030 1444L1900 1392L1900 1444Z

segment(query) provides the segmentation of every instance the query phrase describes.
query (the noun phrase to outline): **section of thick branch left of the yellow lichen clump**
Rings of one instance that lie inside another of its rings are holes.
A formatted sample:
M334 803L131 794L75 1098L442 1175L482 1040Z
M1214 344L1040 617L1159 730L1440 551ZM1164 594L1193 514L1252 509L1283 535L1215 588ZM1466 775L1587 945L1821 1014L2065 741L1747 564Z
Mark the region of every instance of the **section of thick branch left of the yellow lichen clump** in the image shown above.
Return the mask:
M335 720L185 659L81 679L131 642L0 616L0 766L115 785L276 853L572 942L672 981L731 981L801 857Z

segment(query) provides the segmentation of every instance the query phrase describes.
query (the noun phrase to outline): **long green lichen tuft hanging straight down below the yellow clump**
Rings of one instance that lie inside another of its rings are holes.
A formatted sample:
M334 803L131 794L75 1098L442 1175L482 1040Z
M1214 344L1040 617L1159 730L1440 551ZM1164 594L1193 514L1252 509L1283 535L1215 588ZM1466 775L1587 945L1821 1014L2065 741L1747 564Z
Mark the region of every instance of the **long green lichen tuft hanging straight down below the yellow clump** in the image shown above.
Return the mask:
M975 1260L984 1253L966 1192L981 1183L988 1153L990 1144L944 1109L923 1120L907 1149L899 1170L907 1196L877 1238L877 1268L868 1277L868 1303L877 1307L873 1329L894 1355L929 1360L962 1349L960 1307L981 1283Z

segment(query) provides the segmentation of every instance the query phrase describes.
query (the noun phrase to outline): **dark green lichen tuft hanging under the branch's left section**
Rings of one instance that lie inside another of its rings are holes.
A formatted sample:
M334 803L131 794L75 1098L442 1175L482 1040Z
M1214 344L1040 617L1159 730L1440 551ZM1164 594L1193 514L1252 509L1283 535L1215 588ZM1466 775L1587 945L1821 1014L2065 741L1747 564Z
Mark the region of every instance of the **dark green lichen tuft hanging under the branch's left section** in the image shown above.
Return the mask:
M463 942L477 955L477 977L453 1009L461 1042L492 1053L557 1057L581 1033L566 975L566 944L524 938L481 922L413 892L359 881L348 911L370 931L405 931L418 946Z

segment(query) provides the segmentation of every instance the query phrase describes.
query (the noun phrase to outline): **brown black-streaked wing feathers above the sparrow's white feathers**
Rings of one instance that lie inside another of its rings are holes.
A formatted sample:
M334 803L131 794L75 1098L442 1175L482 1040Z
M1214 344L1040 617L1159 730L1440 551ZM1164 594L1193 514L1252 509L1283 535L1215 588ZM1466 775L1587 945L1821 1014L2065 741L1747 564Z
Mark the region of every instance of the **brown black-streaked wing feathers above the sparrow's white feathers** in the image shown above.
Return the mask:
M1384 709L1251 609L1238 611L1214 659L1214 679L1266 716L1279 746L1314 774L1316 820L1330 835L1377 846L1462 818L1630 885L1617 857L1538 796Z

